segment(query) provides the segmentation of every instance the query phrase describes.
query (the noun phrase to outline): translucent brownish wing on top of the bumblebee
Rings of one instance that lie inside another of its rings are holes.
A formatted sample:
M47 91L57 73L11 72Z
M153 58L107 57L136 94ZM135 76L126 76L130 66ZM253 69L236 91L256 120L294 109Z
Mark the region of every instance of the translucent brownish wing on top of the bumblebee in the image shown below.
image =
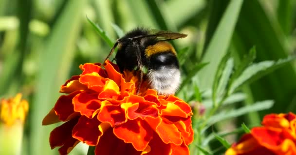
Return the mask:
M145 35L145 36L138 36L136 37L137 39L141 39L141 38L155 38L157 40L160 41L167 41L167 40L174 40L174 39L178 39L178 38L185 38L187 36L187 34L183 34L183 33L176 33L176 32L172 32L172 31L150 31L151 34L149 35Z

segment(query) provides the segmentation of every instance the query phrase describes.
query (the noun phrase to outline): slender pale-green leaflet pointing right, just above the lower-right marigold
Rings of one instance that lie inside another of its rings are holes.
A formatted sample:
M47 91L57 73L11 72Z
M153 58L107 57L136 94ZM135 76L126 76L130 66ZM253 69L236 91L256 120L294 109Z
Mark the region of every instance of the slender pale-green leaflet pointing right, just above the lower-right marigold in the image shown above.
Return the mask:
M247 114L249 112L254 112L254 111L259 111L259 110L264 110L264 109L269 109L273 106L274 102L272 100L265 100L265 101L260 101L256 102L252 105L247 105L244 106L240 109L232 109L232 110L223 110L220 113L213 115L209 118L208 120L208 125L215 124L217 122L220 122L225 119L230 119L230 118L235 118L244 114Z

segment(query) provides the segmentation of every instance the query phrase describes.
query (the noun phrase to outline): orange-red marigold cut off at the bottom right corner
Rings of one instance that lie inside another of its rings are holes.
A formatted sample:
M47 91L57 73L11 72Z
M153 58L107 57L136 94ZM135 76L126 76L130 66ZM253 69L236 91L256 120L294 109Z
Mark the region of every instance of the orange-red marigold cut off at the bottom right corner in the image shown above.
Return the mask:
M269 114L225 155L296 155L296 115Z

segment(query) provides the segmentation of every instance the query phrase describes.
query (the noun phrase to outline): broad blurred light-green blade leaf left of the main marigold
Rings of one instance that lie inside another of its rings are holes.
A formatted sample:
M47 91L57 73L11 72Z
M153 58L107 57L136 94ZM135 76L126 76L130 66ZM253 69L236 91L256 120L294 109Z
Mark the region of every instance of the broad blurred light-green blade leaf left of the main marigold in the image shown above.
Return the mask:
M30 104L30 144L28 155L51 155L48 136L55 125L42 126L44 116L53 108L60 86L69 78L72 62L75 56L77 37L85 9L85 0L69 0L63 12L58 16L54 29L47 38L44 48L40 52L38 78L36 80L35 95ZM78 66L76 66L78 68Z

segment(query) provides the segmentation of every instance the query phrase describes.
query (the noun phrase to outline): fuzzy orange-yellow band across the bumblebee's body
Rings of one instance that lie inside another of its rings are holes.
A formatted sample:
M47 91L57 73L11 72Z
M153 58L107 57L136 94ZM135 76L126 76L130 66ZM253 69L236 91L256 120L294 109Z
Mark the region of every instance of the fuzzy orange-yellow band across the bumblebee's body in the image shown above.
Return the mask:
M157 53L162 53L166 51L171 51L174 55L177 55L174 47L168 42L158 42L155 45L148 46L145 49L146 57L150 57Z

